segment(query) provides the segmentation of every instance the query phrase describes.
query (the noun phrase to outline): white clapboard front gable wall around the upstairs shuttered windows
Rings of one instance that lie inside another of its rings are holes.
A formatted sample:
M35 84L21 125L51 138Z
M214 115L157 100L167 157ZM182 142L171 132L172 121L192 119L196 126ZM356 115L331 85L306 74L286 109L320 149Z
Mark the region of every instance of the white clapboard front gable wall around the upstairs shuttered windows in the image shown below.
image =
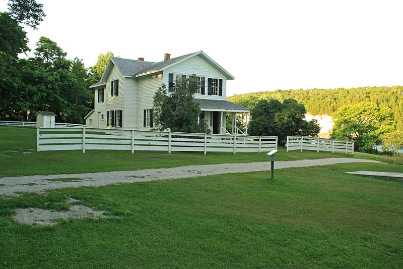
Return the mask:
M201 56L197 55L193 58L190 58L182 63L174 65L166 70L164 70L164 83L168 85L169 82L169 73L176 74L184 74L184 75L192 75L195 74L197 76L205 76L206 78L218 78L223 80L223 96L216 95L208 95L207 91L207 79L206 79L206 89L205 95L195 94L195 98L204 98L204 99L215 99L215 100L225 100L226 99L226 74L221 72L218 68L213 66L210 62L206 61Z

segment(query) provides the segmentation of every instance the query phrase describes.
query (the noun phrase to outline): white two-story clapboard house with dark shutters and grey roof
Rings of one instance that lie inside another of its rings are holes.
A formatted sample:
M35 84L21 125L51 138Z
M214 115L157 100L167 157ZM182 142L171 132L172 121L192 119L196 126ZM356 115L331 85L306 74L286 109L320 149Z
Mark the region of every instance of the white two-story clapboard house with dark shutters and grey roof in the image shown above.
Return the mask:
M237 113L247 121L249 110L226 100L227 80L234 79L203 51L170 59L165 53L162 62L146 62L143 58L129 60L111 58L101 80L94 89L95 107L86 117L87 127L109 129L151 130L153 102L158 88L164 83L169 91L175 89L178 78L195 74L199 89L194 95L211 133L237 133ZM225 129L231 117L232 129Z

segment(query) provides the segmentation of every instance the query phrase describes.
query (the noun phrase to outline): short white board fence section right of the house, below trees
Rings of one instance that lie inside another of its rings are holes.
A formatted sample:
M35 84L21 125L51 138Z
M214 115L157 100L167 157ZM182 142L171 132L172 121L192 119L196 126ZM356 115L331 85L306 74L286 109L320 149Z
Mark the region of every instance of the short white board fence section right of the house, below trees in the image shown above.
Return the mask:
M341 151L354 154L354 141L328 139L311 136L287 136L287 152L289 150Z

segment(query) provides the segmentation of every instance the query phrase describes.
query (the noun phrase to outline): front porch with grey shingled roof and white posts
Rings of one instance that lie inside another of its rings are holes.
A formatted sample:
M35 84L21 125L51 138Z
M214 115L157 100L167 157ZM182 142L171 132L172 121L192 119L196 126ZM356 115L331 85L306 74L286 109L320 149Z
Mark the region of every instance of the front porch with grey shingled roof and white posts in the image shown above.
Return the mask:
M200 119L205 119L212 134L248 135L249 110L246 107L227 100L195 99L200 104ZM245 130L237 126L237 117L242 115ZM227 118L231 120L231 129L226 126Z

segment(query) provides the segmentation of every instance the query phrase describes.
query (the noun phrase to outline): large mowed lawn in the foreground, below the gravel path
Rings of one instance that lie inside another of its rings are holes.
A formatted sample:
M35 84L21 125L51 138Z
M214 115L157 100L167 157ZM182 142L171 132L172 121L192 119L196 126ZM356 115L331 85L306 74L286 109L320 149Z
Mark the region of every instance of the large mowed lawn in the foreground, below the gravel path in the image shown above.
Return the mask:
M339 164L51 190L0 198L5 267L403 266L403 183L344 172L402 172ZM20 207L66 209L66 198L108 218L17 224Z

